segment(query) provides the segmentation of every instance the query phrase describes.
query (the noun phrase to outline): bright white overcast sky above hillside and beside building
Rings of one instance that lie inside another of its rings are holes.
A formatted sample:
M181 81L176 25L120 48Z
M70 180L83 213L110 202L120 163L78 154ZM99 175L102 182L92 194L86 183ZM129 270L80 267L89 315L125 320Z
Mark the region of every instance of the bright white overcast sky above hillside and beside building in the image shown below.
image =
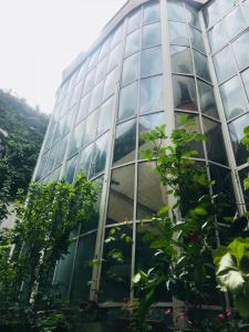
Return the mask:
M52 113L62 71L126 0L0 0L0 89Z

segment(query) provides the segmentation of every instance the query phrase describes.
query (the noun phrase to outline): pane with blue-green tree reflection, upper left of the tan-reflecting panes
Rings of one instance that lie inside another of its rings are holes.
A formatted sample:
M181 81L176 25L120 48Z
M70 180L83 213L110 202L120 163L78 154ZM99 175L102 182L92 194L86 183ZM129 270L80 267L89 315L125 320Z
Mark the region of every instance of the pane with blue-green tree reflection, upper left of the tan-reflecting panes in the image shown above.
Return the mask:
M106 133L95 142L90 178L97 175L98 173L104 172L105 169L108 138L110 133Z

